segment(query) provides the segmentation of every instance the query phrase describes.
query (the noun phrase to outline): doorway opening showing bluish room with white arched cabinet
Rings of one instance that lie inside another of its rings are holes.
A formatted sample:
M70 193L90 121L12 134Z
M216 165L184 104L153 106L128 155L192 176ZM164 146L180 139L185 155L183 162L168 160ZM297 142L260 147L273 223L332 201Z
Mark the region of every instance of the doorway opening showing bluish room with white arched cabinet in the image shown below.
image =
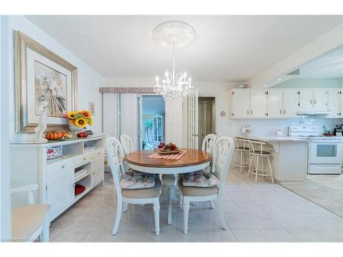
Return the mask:
M165 100L160 95L141 97L140 149L154 149L165 140Z

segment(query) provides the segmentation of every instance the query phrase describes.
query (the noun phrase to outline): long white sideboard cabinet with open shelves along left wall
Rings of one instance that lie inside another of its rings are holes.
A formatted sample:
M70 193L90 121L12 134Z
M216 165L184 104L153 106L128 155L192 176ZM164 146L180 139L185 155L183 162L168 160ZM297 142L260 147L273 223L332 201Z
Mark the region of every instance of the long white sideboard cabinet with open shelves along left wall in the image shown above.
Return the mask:
M49 221L104 183L105 135L73 140L51 141L44 144L11 144L11 186L38 184L34 200L49 204ZM47 160L51 147L62 149L62 158ZM78 171L82 171L79 172ZM75 196L75 185L86 190ZM27 194L12 195L12 208L27 204Z

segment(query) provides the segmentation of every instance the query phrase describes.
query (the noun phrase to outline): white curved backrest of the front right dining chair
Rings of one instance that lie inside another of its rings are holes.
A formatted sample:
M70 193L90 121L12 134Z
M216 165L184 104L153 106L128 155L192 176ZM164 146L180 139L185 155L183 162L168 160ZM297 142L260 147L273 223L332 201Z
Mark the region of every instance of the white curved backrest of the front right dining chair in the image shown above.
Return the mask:
M228 168L233 158L235 142L233 138L222 136L218 138L213 147L213 165L211 173L220 180L220 191L224 188ZM220 192L221 193L221 192Z

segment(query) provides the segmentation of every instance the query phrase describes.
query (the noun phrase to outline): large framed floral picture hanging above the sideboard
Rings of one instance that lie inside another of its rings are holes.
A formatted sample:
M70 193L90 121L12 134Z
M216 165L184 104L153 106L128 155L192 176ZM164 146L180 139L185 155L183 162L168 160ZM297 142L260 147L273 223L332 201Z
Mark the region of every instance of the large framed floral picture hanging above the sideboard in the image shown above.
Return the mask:
M64 115L77 109L78 69L19 31L14 50L16 132L34 132L42 101L47 102L47 130L67 130Z

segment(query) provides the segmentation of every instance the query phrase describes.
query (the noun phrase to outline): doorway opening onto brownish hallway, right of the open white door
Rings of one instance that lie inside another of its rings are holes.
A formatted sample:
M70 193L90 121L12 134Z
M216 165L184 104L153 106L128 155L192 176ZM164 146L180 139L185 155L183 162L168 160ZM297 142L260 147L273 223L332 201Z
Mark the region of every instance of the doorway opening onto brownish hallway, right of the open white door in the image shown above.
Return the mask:
M201 149L205 136L215 134L215 97L198 98L198 130L198 149Z

